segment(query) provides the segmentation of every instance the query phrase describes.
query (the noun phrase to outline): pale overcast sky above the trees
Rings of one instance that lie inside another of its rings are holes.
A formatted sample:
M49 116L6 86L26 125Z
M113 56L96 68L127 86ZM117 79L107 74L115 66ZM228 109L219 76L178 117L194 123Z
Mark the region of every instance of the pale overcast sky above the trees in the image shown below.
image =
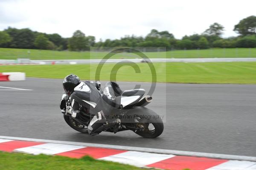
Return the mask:
M237 35L234 25L256 15L255 6L256 0L0 0L0 31L11 26L71 37L79 29L99 41L157 29L180 39L217 22L230 37Z

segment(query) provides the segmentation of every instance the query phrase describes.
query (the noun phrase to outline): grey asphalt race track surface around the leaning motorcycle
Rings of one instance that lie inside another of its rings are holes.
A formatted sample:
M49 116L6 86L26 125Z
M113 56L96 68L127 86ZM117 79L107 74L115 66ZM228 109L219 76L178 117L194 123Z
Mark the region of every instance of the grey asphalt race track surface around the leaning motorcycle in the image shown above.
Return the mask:
M135 83L119 82L122 89ZM141 84L148 90L149 83ZM104 85L104 84L102 84ZM0 135L256 156L256 85L157 84L148 108L164 115L163 134L142 138L132 131L90 136L63 119L62 80L27 78L0 82Z

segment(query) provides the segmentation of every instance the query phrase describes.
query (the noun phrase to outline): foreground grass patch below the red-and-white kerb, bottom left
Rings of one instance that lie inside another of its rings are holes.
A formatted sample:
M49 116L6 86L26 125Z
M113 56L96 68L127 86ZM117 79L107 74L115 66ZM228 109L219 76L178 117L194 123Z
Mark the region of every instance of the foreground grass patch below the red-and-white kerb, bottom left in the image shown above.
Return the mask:
M142 170L131 165L63 156L27 155L0 152L0 170Z

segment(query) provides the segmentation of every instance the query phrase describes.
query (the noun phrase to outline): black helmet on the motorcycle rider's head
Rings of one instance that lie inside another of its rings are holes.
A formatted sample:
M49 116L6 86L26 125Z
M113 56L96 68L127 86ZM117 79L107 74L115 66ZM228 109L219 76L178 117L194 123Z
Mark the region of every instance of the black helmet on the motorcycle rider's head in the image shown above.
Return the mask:
M67 95L71 95L71 93L74 91L74 88L80 83L81 81L77 75L67 75L63 81L63 88Z

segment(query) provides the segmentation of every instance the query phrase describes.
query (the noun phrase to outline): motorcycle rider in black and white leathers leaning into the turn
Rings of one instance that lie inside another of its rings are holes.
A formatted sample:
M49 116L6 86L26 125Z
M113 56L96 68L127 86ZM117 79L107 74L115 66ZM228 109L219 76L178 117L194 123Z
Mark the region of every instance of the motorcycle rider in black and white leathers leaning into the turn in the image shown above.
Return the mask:
M70 97L71 106L67 107L67 112L72 117L77 118L80 114L80 106L89 109L94 115L88 125L88 133L97 135L102 132L103 124L106 123L111 110L119 107L116 104L116 97L120 96L122 90L118 84L108 82L103 92L100 84L93 81L80 81L77 75L67 75L63 81L63 88ZM117 122L113 122L117 123Z

